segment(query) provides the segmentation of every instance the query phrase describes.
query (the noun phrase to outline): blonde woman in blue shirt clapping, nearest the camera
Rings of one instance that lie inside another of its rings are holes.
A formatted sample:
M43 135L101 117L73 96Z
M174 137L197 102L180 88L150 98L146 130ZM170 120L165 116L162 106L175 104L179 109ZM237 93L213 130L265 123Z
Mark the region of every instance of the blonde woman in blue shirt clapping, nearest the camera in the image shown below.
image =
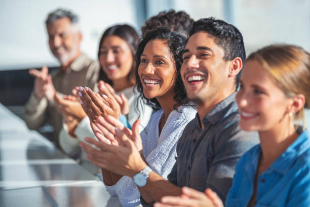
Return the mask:
M237 163L226 207L310 205L309 80L310 54L301 47L270 45L247 58L236 96L239 124L258 131L260 144ZM300 120L303 125L295 125ZM154 206L223 206L211 189L182 192Z

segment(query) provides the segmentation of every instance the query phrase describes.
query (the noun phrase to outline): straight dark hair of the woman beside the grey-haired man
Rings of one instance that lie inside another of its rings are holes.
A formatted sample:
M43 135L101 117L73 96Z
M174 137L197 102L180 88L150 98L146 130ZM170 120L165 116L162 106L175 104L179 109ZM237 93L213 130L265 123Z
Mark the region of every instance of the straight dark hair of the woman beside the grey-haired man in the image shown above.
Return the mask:
M104 39L107 36L118 36L119 38L122 38L124 41L126 41L126 43L128 44L132 56L135 56L135 51L136 51L136 47L138 45L139 42L139 36L137 31L130 25L128 24L117 24L114 26L111 26L109 28L107 28L103 34L102 37L100 39L99 42L99 49L98 49L98 58L100 55L100 47L101 44L103 43ZM135 84L135 77L134 77L134 71L136 68L136 62L135 59L133 60L133 64L130 70L130 73L127 75L127 80L134 85ZM99 77L98 77L98 81L99 80L103 80L104 82L110 84L111 86L113 86L113 83L110 79L108 79L108 77L106 76L106 74L104 73L102 66L100 65L100 72L99 72Z

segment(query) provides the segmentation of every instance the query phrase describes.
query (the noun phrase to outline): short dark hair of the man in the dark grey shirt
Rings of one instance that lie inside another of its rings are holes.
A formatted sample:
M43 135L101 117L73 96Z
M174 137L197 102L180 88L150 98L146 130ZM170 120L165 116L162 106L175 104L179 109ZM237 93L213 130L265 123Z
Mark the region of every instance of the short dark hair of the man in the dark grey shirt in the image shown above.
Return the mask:
M213 17L200 19L193 23L189 31L189 37L199 31L205 31L214 37L217 46L224 50L224 60L232 60L240 57L245 61L246 53L241 32L232 24ZM239 86L239 79L242 70L236 76L236 90Z

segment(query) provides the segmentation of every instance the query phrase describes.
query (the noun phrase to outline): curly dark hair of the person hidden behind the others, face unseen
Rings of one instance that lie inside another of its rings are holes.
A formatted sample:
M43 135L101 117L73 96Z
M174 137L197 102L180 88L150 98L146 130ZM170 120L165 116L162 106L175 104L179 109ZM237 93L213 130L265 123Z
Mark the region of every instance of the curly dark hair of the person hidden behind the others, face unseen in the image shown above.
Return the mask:
M147 32L159 27L170 28L172 31L177 31L188 37L193 22L193 19L186 12L175 12L175 10L163 11L146 20L141 28L142 37L145 37Z

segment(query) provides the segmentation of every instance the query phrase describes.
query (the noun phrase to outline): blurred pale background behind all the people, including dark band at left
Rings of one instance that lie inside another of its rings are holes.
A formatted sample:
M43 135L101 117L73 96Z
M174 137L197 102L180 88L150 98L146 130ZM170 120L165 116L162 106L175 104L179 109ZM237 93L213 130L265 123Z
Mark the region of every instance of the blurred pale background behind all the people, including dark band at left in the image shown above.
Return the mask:
M195 20L214 16L236 25L247 55L273 43L310 50L310 0L1 0L0 102L17 114L33 86L27 70L58 65L48 47L45 19L59 7L79 15L82 50L92 58L108 26L128 23L140 32L148 17L169 9L186 11ZM310 128L309 112L307 117Z

